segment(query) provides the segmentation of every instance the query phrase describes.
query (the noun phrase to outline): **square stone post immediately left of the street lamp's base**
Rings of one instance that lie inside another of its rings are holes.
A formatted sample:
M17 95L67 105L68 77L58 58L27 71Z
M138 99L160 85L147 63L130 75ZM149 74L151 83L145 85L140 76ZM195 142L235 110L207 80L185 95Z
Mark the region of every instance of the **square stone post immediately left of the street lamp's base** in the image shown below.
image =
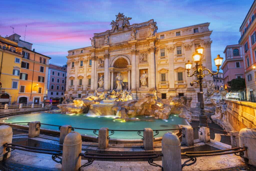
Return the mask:
M192 146L194 145L194 131L191 126L188 125L180 125L182 128L182 143L185 144L186 146Z

